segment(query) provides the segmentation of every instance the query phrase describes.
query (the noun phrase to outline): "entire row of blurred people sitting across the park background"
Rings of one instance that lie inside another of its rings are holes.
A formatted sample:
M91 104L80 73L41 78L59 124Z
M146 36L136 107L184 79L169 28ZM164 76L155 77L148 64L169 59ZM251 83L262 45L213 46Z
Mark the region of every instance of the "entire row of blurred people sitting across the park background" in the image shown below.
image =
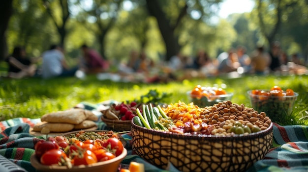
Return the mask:
M37 67L35 63L40 60L39 58L29 59L25 49L15 47L13 53L6 59L9 64L8 77L41 76L42 78L52 78L74 76L78 71L84 74L99 74L109 71L110 63L97 51L87 45L81 46L80 49L82 58L79 59L78 65L68 67L62 47L52 45L49 50L42 53L41 66ZM217 58L210 58L206 51L199 50L192 58L178 53L168 62L162 61L156 64L145 51L138 53L133 50L128 61L120 63L118 66L121 74L142 73L148 75L156 73L151 78L154 80L177 79L175 75L179 71L188 71L189 74L197 72L203 76L217 76L232 72L262 75L281 72L285 68L294 71L307 70L296 54L292 54L292 58L289 59L286 53L280 49L278 42L271 45L269 52L265 52L264 48L259 46L250 56L247 55L245 47L238 46L236 49L220 53Z

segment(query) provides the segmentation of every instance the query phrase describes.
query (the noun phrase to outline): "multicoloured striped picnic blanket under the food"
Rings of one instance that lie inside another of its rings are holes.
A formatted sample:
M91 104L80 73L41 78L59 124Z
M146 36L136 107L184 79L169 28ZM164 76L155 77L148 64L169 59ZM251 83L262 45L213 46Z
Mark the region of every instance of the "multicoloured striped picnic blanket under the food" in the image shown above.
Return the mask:
M31 166L30 156L34 152L34 145L43 136L34 137L29 134L30 126L37 119L18 118L0 122L0 155L8 158L28 172L35 172ZM99 122L98 129L108 129L103 122ZM257 161L247 172L303 172L308 171L308 126L292 125L280 126L274 123L273 148L265 158ZM124 134L128 140L126 148L130 153L122 161L128 165L131 161L145 164L146 172L167 172L146 162L132 154L129 140L130 134ZM178 172L173 166L170 172Z

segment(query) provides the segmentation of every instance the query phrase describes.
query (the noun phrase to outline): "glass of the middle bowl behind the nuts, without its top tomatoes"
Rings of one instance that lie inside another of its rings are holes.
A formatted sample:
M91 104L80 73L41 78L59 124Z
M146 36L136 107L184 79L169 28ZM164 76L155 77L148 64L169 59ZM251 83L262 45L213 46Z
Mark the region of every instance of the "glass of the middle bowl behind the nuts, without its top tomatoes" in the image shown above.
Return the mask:
M193 102L194 105L197 105L199 107L213 106L218 102L231 100L231 98L233 97L233 93L227 93L225 95L213 95L210 97L197 96L197 95L192 95L190 93L191 91L188 91L186 93L189 101Z

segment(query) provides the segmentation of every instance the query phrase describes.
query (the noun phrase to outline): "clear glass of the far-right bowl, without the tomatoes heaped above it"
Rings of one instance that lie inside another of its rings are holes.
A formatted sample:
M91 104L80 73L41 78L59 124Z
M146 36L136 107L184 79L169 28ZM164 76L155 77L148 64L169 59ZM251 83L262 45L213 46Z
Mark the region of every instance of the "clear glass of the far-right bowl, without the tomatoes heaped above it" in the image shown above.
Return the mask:
M270 91L270 90L261 90ZM280 122L282 118L290 115L293 110L295 100L298 93L294 92L293 96L262 96L251 93L252 90L247 91L250 99L251 107L258 112L265 112L273 122ZM285 91L284 91L285 93Z

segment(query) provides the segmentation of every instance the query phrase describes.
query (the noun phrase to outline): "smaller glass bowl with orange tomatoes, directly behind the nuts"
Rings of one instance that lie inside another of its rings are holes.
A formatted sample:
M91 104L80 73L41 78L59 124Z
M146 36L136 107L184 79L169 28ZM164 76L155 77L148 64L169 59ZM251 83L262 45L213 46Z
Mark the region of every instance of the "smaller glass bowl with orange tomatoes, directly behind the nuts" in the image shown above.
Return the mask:
M233 93L228 93L222 88L197 85L187 92L187 96L190 102L199 107L205 107L213 106L221 101L231 100Z

